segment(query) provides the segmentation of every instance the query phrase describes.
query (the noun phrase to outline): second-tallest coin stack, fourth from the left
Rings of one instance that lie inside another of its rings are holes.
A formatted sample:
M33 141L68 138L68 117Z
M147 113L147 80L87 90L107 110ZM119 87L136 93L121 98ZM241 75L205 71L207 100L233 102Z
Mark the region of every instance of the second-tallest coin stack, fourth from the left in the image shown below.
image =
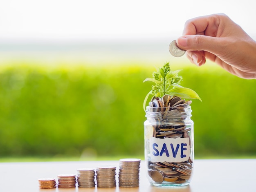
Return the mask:
M114 188L116 186L116 167L112 165L103 165L97 167L97 187Z

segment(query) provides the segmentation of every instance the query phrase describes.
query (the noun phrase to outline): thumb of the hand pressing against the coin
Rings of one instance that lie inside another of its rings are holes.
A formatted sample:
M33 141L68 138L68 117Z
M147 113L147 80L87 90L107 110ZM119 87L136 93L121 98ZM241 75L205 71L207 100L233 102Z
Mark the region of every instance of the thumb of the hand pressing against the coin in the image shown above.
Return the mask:
M180 49L188 51L208 51L215 53L220 47L218 38L204 35L189 35L177 38L177 45Z

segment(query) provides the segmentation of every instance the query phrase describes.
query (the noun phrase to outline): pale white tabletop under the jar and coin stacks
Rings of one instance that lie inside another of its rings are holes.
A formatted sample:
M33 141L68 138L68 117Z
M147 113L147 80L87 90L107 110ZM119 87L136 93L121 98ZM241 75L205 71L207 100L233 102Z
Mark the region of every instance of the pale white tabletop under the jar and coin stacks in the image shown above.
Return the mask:
M256 192L256 159L211 159L194 161L193 178L180 188L150 185L146 178L145 161L141 161L139 187L119 188L54 188L40 189L38 179L58 174L77 174L81 167L119 166L119 161L69 161L0 163L0 192Z

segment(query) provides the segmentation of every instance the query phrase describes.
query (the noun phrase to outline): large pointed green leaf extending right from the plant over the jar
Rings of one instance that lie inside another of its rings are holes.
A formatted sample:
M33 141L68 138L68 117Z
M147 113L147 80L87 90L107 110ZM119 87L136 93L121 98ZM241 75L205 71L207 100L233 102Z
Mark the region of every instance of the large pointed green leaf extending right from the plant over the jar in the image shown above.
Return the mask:
M202 99L198 96L198 94L195 91L186 87L173 88L169 91L169 93L181 98L195 98L202 101Z

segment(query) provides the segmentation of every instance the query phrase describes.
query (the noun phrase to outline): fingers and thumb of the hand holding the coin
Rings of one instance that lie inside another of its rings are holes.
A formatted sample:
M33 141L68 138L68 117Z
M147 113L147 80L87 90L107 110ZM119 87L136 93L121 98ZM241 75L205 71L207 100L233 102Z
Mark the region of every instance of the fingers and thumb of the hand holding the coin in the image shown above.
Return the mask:
M222 14L202 16L188 20L185 24L182 37L176 40L177 46L187 50L187 57L192 63L201 66L206 62L205 53L211 59L221 50L217 41L218 27Z

